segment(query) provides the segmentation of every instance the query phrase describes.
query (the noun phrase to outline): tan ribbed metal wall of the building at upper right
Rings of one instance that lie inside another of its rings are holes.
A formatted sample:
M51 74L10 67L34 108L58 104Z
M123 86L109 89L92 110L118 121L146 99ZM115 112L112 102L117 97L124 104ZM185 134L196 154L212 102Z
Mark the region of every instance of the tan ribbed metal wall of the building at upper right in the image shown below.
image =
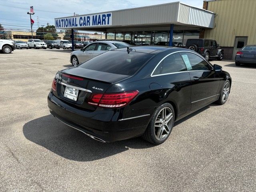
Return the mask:
M248 36L247 44L256 44L256 0L210 1L208 10L216 13L216 27L206 30L204 38L233 47L236 36Z

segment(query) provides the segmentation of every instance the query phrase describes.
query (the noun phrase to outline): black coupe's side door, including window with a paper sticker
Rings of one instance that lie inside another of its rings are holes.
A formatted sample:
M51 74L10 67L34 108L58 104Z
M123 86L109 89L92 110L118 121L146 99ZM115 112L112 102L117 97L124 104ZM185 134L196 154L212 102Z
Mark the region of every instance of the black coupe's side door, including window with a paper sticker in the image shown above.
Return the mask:
M191 110L210 104L219 96L220 76L202 57L180 52L191 79Z

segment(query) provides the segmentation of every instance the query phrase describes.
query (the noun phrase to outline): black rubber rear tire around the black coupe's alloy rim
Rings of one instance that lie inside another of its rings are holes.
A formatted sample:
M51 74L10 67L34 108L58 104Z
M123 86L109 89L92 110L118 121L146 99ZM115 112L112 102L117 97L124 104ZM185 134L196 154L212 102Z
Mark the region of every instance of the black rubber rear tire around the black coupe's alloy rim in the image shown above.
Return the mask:
M172 122L170 122L170 131L169 131L168 135L163 140L158 140L156 138L155 122L156 122L157 118L159 118L159 113L164 108L169 108L172 111L172 119L171 119ZM174 108L172 107L172 105L170 103L164 103L164 104L160 105L154 112L146 131L142 135L142 138L144 138L148 142L155 144L155 145L162 144L163 142L165 142L168 139L168 137L170 136L170 134L172 132L172 128L174 125L174 119L175 119L175 114L174 114Z

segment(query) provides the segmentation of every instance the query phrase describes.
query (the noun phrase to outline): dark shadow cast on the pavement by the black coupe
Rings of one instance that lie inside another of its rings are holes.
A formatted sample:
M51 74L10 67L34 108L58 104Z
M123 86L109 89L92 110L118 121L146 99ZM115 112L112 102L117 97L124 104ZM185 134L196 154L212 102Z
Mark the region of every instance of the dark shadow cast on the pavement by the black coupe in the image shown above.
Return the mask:
M203 112L210 108L210 106L216 105L206 106L175 122L174 126ZM129 148L144 149L154 147L153 144L143 140L141 137L113 143L98 142L82 132L63 124L52 115L27 122L23 126L23 134L28 140L43 146L59 156L81 162L106 158L129 150Z

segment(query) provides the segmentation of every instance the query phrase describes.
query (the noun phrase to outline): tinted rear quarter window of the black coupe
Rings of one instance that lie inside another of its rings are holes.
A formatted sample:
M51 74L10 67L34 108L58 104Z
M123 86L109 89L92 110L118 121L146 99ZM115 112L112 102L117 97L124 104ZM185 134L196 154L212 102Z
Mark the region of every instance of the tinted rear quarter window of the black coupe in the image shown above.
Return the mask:
M162 65L161 74L181 72L187 70L179 53L169 55L164 60L162 60L160 65Z

